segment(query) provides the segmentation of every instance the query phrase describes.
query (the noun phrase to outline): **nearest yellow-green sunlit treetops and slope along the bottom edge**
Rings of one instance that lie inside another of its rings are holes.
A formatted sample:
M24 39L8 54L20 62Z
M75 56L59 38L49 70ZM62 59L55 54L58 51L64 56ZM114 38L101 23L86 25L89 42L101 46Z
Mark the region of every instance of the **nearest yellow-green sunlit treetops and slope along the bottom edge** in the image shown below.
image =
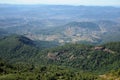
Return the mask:
M74 68L31 64L14 64L0 59L0 80L115 80L120 79L120 70L106 74L96 75L91 72L83 72Z

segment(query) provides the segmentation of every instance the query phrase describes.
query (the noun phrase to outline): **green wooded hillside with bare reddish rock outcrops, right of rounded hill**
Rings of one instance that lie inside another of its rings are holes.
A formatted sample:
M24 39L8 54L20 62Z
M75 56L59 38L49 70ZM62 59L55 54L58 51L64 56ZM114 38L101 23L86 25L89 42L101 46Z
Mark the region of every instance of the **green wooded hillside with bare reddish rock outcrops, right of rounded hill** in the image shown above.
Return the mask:
M120 67L120 54L118 49L120 43L116 43L111 45L108 43L100 47L67 44L39 52L35 62L70 66L84 71L105 73L112 69L117 70ZM111 49L110 46L114 48Z

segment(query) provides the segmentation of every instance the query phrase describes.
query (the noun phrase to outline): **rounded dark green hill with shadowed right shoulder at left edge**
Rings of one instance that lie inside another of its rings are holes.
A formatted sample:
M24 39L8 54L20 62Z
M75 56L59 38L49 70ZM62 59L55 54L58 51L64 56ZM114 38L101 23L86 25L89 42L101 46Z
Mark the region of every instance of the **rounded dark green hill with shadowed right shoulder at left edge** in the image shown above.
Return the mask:
M0 39L0 56L11 62L25 61L36 51L33 41L24 36L12 35Z

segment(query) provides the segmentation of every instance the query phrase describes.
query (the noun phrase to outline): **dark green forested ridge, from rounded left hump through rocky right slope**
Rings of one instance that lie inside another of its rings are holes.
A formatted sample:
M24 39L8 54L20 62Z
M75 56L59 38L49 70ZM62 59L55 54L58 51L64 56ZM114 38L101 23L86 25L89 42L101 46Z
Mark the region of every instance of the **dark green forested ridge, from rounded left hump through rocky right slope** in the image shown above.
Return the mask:
M12 63L54 64L98 73L120 67L120 42L100 46L66 44L45 50L35 46L32 40L24 36L3 37L0 39L0 56Z

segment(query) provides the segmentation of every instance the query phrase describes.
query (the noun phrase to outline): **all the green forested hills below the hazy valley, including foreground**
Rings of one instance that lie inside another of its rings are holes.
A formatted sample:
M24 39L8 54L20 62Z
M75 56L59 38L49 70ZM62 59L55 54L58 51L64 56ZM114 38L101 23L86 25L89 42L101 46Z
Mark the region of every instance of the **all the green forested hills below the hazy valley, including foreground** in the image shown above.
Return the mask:
M120 79L120 42L37 45L21 35L1 37L0 80Z

